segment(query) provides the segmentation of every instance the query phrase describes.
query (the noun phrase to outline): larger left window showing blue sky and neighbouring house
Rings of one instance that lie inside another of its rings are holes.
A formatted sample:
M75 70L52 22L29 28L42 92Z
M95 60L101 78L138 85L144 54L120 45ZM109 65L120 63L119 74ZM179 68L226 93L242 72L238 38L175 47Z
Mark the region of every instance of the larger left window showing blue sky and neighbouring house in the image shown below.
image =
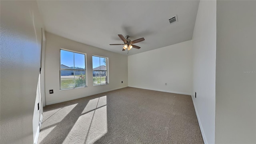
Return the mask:
M60 50L60 89L86 86L86 54Z

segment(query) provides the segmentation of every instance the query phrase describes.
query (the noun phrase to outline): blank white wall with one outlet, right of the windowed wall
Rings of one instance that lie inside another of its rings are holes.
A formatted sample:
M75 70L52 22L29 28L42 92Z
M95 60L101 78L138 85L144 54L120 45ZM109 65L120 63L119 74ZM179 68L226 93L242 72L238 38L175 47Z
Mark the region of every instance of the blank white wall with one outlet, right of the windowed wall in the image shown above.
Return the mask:
M128 56L128 80L130 87L190 95L192 40Z

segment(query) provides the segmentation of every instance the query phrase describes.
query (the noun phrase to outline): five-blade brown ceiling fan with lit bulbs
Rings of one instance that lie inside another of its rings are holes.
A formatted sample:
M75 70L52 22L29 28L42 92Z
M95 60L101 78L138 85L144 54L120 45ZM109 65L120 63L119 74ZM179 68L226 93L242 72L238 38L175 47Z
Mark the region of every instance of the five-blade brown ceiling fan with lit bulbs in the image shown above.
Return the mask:
M122 34L118 34L118 36L119 36L119 38L121 38L121 40L124 42L124 44L109 44L109 45L124 45L122 51L126 50L126 48L127 48L127 50L130 50L131 48L140 49L139 46L136 46L134 44L137 43L137 42L141 42L141 41L145 40L144 38L139 38L137 40L131 41L131 40L128 39L129 36L125 36L126 39L124 38L124 36Z

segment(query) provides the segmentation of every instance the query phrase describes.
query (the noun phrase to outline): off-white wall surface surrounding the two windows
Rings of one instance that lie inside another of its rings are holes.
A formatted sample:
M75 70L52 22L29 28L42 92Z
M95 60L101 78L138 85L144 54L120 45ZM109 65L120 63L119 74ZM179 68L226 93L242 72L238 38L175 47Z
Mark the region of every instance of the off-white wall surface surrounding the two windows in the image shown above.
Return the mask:
M100 41L99 41L100 42ZM60 90L60 48L86 53L87 56L87 86L72 90ZM93 86L92 55L108 58L109 84ZM45 58L45 90L46 105L90 96L128 86L127 56L114 52L88 46L51 33L46 32L46 58ZM123 83L121 83L123 81ZM54 94L49 94L49 90Z

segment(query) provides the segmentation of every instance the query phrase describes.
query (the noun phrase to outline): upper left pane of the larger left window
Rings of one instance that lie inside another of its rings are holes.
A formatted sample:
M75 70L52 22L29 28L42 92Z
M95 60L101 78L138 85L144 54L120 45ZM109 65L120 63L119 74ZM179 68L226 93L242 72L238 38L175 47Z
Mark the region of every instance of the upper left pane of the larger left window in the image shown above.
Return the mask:
M74 67L74 52L60 50L60 68L71 69Z

